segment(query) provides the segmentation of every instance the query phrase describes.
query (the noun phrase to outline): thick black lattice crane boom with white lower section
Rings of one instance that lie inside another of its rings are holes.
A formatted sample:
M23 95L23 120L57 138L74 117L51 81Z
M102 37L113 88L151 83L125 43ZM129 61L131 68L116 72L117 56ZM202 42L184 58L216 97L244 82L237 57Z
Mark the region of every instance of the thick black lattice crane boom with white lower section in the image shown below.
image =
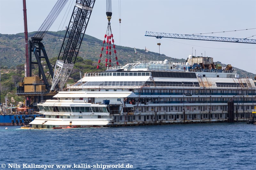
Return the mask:
M58 60L55 64L51 90L54 90L59 82L60 90L62 90L73 70L94 3L95 0L76 0Z

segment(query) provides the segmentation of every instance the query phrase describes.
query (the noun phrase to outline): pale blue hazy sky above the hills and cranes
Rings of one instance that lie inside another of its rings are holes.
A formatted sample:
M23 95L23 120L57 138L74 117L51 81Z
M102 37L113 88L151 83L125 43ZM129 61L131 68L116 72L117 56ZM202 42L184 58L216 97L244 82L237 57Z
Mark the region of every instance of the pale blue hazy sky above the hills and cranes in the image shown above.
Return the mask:
M56 2L57 0L27 0L28 32L36 31L41 26ZM72 11L75 1L72 0L71 3ZM58 30L68 4L50 28L51 31ZM256 0L121 0L121 24L118 21L118 6L118 1L112 0L111 28L117 45L140 49L146 46L150 51L158 52L157 42L161 42L160 53L175 58L187 58L193 47L193 55L196 50L197 56L201 56L201 53L204 56L205 53L206 56L213 57L215 62L231 64L254 74L256 72L255 44L170 38L157 41L154 37L144 36L146 31L193 34L256 28ZM71 11L63 29L68 26ZM86 34L103 40L107 24L106 1L96 0ZM63 24L60 30L62 26ZM21 32L24 32L22 0L0 0L0 33ZM252 39L256 39L256 29L204 35L235 38L254 35Z

